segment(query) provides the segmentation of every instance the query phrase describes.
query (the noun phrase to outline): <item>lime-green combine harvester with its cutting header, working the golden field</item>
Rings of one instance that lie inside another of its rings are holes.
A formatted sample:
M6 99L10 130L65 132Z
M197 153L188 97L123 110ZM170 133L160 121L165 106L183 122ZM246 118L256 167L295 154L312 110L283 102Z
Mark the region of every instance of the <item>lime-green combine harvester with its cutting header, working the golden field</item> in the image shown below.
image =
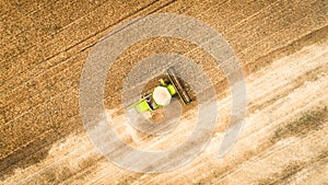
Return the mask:
M160 85L152 92L147 93L142 99L129 107L134 107L139 113L152 112L171 103L171 99L178 97L184 105L192 102L181 81L177 78L174 68L168 68L166 78L160 79Z

